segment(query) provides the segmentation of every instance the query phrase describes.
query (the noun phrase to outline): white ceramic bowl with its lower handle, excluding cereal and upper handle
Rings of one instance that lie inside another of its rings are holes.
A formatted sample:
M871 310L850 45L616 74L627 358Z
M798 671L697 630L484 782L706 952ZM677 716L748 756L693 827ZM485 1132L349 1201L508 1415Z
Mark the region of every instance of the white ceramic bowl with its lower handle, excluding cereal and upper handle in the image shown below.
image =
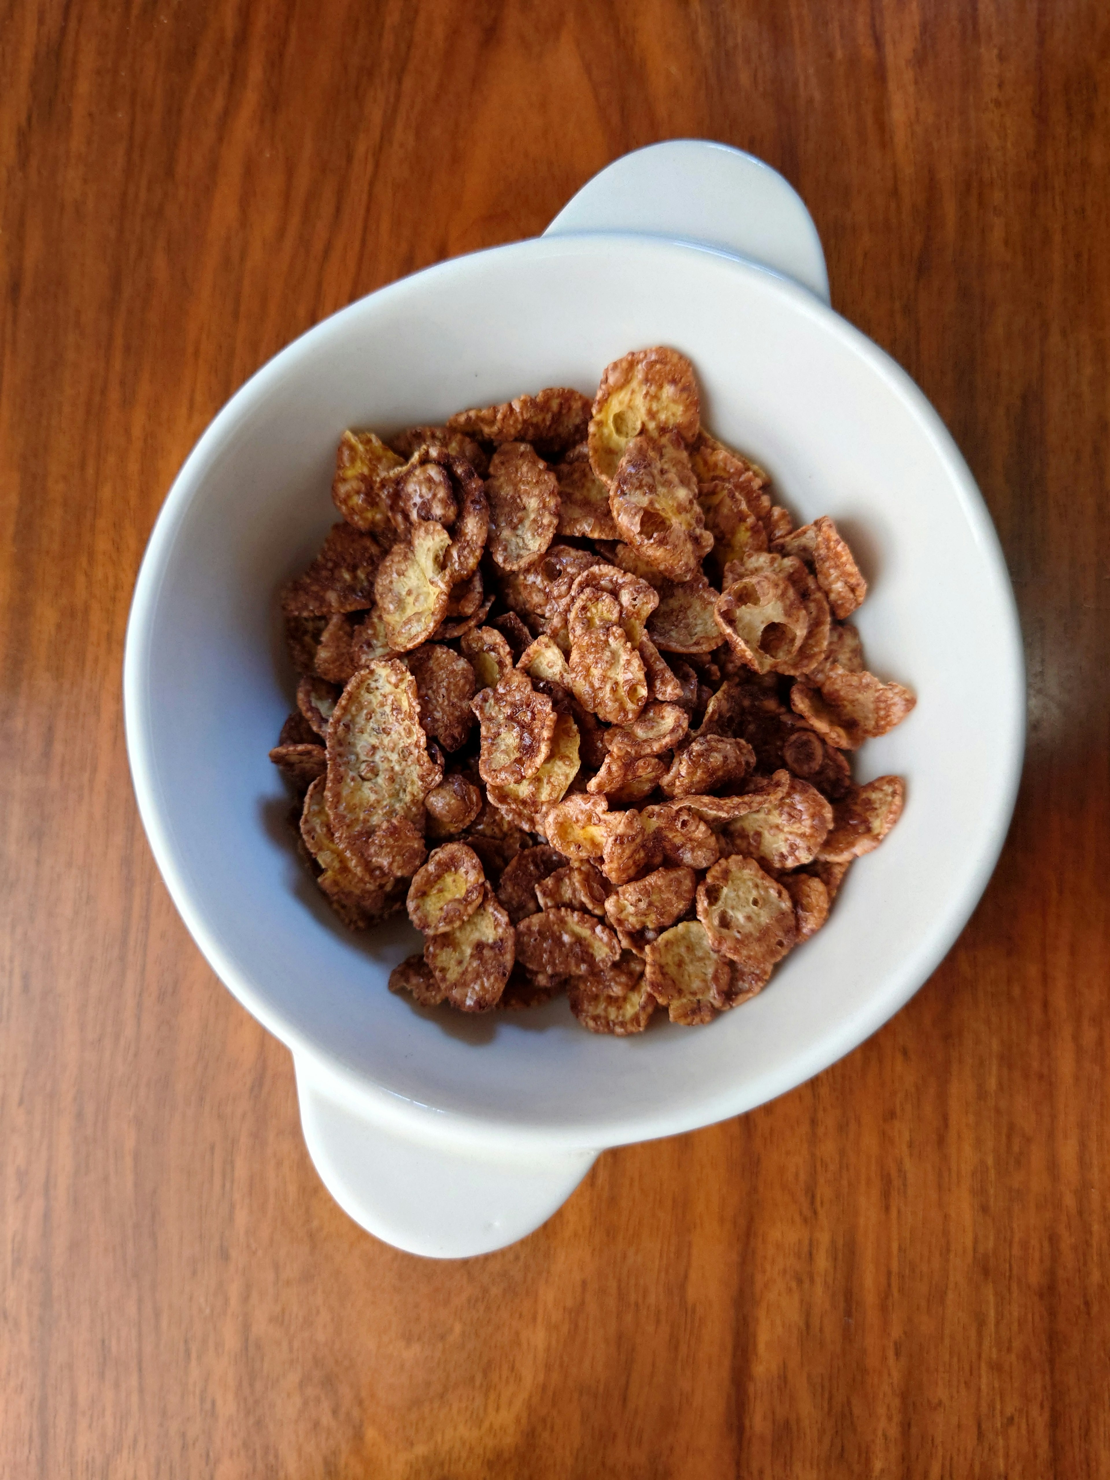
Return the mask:
M281 582L334 521L345 426L391 432L542 385L592 392L630 348L691 357L704 423L830 514L870 583L869 666L918 694L857 774L906 777L901 821L830 921L707 1027L583 1032L562 1000L466 1018L386 990L419 937L355 935L295 857L266 750L293 697ZM175 482L136 588L127 740L158 867L213 969L293 1051L305 1131L339 1200L423 1254L543 1221L598 1150L739 1114L875 1032L925 981L1002 845L1023 747L1014 602L983 500L912 380L813 293L694 246L524 241L431 268L290 345L221 411Z

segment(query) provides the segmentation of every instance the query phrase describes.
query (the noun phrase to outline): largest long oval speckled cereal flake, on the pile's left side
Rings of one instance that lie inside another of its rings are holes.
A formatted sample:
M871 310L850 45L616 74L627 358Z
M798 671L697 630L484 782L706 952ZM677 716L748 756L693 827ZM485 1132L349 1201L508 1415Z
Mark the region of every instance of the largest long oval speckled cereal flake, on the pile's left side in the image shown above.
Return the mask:
M416 679L395 659L376 659L346 685L327 728L327 811L340 845L374 863L374 833L398 820L422 824L441 776Z

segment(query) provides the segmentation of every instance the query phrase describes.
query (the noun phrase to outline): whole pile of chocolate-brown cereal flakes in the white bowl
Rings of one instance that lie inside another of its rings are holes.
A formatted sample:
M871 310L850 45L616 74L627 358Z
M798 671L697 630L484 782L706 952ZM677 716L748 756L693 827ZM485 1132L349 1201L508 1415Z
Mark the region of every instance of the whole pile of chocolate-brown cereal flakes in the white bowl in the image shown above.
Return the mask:
M565 990L617 1035L761 992L903 805L851 778L913 696L863 666L833 521L793 527L666 348L592 406L345 432L332 491L343 522L283 592L302 676L271 759L343 924L404 904L423 931L391 989Z

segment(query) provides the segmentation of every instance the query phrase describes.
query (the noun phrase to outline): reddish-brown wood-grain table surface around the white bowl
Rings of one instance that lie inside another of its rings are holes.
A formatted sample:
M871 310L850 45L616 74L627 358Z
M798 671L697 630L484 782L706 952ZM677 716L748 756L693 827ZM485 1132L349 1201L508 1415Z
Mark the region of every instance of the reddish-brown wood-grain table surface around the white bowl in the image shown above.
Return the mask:
M0 6L3 1476L1110 1474L1107 19ZM289 339L691 135L798 186L833 303L980 481L1026 632L1021 799L869 1043L604 1156L515 1248L426 1262L330 1200L289 1055L155 873L132 585L194 440Z

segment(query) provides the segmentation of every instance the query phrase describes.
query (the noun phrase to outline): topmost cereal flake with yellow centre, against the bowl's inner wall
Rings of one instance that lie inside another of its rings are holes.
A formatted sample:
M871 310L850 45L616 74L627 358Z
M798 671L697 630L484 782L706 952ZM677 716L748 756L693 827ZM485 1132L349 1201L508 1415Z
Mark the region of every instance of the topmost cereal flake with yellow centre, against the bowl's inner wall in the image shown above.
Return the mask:
M589 422L589 460L598 478L611 482L633 437L676 432L690 445L700 420L697 380L687 357L662 345L636 349L601 376Z

